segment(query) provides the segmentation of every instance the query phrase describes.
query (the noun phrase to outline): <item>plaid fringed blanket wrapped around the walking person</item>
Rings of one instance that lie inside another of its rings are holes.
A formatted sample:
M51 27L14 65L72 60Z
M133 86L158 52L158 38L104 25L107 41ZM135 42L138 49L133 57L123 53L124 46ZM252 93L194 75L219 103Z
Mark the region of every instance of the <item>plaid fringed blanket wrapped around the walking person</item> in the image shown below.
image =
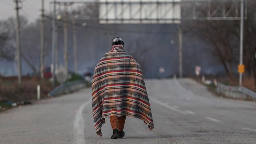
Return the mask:
M148 94L138 62L122 46L114 45L100 59L92 82L92 110L96 133L105 118L129 116L143 120L154 128Z

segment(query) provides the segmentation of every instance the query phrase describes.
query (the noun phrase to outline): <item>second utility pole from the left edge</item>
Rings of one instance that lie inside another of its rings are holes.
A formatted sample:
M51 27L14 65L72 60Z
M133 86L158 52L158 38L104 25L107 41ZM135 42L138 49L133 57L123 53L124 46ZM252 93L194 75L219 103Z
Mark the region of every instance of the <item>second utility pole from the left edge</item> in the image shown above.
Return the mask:
M41 9L41 48L40 48L40 74L41 78L44 78L44 0L42 0Z

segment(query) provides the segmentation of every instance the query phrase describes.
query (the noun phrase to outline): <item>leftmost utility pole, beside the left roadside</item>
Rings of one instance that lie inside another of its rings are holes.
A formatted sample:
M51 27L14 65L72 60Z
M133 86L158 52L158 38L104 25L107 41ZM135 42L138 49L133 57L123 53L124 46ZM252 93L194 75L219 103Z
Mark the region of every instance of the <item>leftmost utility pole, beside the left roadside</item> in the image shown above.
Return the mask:
M21 68L21 48L20 48L20 14L19 10L21 7L19 7L20 0L14 0L15 2L15 10L16 10L16 58L17 58L17 67L18 67L18 84L21 84L21 74L22 74L22 68Z

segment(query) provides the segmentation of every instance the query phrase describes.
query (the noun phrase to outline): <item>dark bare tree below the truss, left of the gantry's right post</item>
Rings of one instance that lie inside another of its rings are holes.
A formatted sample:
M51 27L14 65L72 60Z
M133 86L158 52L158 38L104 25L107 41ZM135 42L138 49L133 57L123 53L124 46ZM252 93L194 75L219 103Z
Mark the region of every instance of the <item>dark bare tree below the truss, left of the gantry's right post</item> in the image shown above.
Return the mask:
M212 54L216 56L224 66L226 73L232 81L233 65L238 58L238 42L235 21L194 21L185 24L187 32L192 32L202 40L210 44Z

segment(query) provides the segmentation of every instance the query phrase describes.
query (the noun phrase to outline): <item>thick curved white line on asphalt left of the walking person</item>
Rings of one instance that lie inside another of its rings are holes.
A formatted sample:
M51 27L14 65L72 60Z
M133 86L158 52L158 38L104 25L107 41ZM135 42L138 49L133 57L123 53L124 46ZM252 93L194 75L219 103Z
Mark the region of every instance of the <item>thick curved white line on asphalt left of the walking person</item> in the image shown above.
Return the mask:
M85 140L84 140L84 118L83 118L83 110L84 107L87 106L88 104L90 104L92 102L92 100L88 100L87 102L85 102L84 104L82 104L75 116L75 120L74 120L74 130L73 130L73 136L74 136L74 140L72 141L73 144L85 144Z

